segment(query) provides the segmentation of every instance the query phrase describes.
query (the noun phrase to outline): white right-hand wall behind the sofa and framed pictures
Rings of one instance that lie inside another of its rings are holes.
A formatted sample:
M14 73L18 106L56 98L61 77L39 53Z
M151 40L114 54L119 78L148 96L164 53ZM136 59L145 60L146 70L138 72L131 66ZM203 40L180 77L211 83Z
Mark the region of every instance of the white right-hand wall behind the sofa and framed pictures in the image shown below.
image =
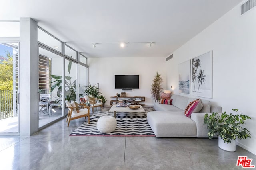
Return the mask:
M256 154L256 8L240 16L241 4L174 51L166 62L166 81L178 94L178 64L213 50L210 100L222 106L222 111L231 113L237 108L252 118L246 121L252 138L237 140L237 144Z

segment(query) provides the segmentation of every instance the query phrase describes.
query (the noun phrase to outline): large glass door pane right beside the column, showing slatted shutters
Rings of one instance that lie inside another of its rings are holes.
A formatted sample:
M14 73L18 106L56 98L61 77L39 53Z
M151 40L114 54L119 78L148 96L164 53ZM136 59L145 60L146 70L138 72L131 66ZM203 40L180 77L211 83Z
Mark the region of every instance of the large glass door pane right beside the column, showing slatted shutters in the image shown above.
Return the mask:
M38 59L38 128L60 119L63 111L64 58L39 47Z

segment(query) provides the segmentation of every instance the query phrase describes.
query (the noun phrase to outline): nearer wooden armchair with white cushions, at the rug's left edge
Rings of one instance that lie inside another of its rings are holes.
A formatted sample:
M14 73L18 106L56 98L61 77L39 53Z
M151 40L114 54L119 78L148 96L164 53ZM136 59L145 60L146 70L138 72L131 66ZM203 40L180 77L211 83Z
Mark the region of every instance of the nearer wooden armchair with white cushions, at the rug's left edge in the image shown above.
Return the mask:
M68 100L66 100L65 103L66 103L66 106L68 107L68 116L66 121L68 122L68 126L71 120L79 119L81 117L85 117L85 120L86 120L86 116L88 116L88 123L90 123L90 107L89 106L78 104L79 107L72 107L72 105L70 104L70 102L68 102ZM76 111L77 108L82 108L82 109L79 109L79 113L78 111Z

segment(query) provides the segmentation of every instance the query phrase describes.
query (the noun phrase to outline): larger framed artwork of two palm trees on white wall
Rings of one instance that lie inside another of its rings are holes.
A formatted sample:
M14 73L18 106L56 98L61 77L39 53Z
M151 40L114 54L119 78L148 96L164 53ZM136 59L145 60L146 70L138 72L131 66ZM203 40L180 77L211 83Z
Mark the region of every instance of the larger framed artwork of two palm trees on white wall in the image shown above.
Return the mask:
M212 51L192 59L191 95L212 98Z

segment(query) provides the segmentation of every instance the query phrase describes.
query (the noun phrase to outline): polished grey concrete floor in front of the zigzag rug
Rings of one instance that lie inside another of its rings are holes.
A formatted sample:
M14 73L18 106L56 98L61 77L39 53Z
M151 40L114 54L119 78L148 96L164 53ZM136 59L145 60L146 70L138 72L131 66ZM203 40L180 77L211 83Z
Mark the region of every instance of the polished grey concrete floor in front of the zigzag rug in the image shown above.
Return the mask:
M156 137L70 137L84 118L67 127L62 119L30 137L0 137L1 170L232 170L241 147L218 148L218 139Z

